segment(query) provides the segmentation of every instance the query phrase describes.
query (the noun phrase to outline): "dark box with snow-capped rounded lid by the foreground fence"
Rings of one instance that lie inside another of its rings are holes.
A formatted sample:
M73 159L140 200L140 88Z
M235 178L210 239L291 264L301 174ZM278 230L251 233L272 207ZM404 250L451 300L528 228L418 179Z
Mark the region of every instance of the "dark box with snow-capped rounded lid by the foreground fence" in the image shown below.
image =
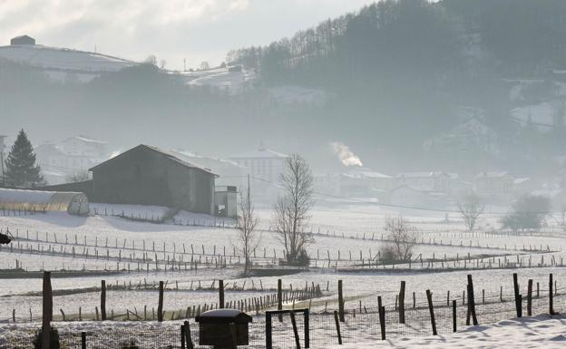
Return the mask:
M248 345L251 316L236 309L216 309L195 318L199 323L199 344L214 349L231 349Z

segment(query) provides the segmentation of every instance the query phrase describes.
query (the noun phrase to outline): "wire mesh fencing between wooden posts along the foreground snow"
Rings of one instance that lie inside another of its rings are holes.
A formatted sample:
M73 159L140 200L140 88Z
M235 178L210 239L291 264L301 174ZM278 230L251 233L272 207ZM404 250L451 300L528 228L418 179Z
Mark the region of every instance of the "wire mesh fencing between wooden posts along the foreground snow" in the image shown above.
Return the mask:
M566 293L553 292L553 308L560 312L566 308ZM498 301L499 300L499 301ZM540 295L532 297L532 314L549 313L549 290L540 290ZM454 308L450 302L436 299L434 301L434 318L438 334L453 332ZM503 301L498 296L488 296L485 302L475 305L480 325L514 318L517 316L515 302L512 297L506 296ZM433 334L431 315L427 305L423 303L409 306L405 309L405 324L399 324L399 313L395 305L385 305L385 337L398 339L405 337L423 337ZM522 298L522 309L527 309L527 299ZM469 325L467 320L468 305L465 301L458 301L455 307L455 323L457 329ZM523 312L526 315L526 312ZM345 321L340 323L340 336L342 342L359 343L379 341L382 338L381 323L376 307L364 307L360 313L358 309L346 311ZM66 323L65 323L66 324ZM86 324L86 325L85 325ZM208 348L200 345L199 325L193 319L189 320L190 338L195 348ZM84 323L78 326L67 326L60 323L60 347L83 348L83 336L87 348L96 349L153 349L153 348L181 348L181 322L131 322L128 325L115 322ZM305 319L296 316L296 325L300 340L304 340ZM82 327L83 326L83 327ZM83 328L83 329L81 329ZM279 322L277 317L271 323L273 348L295 348L295 336L289 315L283 315ZM309 315L309 342L311 348L325 347L338 343L337 324L332 313L319 312ZM24 333L6 334L0 339L0 349L28 349L33 348L34 327L27 327ZM249 345L245 347L259 349L266 347L266 321L262 315L256 315L249 324ZM83 334L84 333L84 334ZM302 342L301 342L302 345ZM185 344L185 348L189 348Z

